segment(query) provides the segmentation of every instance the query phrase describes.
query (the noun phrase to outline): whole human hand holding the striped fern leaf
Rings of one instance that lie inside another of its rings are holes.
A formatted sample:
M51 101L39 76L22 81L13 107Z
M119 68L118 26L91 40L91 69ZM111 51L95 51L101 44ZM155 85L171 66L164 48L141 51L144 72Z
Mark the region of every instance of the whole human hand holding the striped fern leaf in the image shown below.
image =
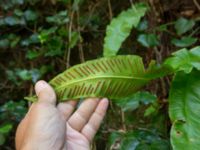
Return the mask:
M88 150L106 114L107 99L89 98L56 106L54 90L45 81L35 85L38 102L33 103L16 132L17 150Z

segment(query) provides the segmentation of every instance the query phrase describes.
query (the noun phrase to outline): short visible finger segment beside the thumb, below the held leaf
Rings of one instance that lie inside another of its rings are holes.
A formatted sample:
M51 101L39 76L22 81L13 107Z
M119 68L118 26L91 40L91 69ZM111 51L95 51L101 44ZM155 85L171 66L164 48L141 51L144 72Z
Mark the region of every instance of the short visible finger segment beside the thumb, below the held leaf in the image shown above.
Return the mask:
M62 102L57 105L58 110L61 112L64 120L68 120L70 115L75 109L77 101Z

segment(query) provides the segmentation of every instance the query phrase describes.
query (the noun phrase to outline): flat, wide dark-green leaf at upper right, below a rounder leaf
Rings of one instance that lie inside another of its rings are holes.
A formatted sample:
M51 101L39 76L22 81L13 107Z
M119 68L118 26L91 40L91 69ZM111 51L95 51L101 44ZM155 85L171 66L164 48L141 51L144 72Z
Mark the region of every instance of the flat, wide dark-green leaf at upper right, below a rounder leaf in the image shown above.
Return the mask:
M188 47L188 46L191 46L193 45L194 43L197 42L197 38L193 38L193 37L189 37L189 36L184 36L184 37L181 37L181 39L172 39L172 44L174 44L175 46L177 47Z

